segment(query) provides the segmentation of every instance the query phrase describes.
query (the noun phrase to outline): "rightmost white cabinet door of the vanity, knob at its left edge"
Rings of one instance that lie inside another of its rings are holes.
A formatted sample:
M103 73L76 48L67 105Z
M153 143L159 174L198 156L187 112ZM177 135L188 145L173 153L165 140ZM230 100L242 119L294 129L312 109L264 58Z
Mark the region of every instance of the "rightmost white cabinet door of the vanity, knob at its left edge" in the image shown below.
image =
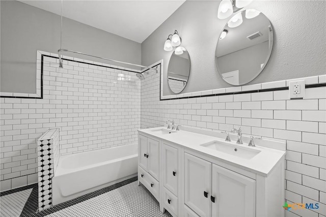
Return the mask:
M256 180L213 164L212 216L255 216Z

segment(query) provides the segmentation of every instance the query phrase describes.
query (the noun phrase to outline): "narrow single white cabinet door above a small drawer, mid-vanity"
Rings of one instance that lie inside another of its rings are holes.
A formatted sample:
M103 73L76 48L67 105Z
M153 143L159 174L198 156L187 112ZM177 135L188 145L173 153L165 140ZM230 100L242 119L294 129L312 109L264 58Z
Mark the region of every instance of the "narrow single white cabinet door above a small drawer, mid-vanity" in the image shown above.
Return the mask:
M178 195L178 149L163 145L164 186Z

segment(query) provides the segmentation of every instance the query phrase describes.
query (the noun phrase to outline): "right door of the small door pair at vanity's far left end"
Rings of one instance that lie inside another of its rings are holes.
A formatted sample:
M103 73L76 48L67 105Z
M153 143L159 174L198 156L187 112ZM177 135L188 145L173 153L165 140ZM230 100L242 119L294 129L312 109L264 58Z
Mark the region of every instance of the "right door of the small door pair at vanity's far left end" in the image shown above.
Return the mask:
M159 142L148 138L148 172L158 180L159 177Z

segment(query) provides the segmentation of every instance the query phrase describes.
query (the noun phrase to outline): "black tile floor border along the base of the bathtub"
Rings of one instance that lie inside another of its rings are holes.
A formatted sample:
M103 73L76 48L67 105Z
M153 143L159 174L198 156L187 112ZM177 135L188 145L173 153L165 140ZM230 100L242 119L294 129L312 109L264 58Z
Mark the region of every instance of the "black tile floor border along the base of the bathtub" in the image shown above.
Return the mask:
M108 187L104 187L104 188L99 189L99 190L97 190L95 192L91 192L89 194L77 197L75 199L63 202L63 203L55 205L55 206L52 206L52 207L50 207L48 209L45 209L45 210L42 210L40 212L37 212L37 209L38 209L38 184L34 184L32 194L31 194L29 200L26 202L26 204L25 204L25 206L23 208L23 211L20 214L20 217L42 217L42 216L46 216L48 214L51 214L51 213L60 211L62 209L65 209L65 208L67 208L69 206L73 206L73 205L75 205L77 203L89 200L91 198L97 197L99 195L102 195L102 194L110 192L110 191L113 191L116 188L122 187L122 186L124 186L126 184L129 184L129 183L137 181L137 180L138 180L138 176L135 176L135 177L132 177L130 179L121 181L119 183L110 185ZM29 185L29 186L30 186L29 188L31 188L31 185ZM27 187L27 186L25 186L25 187ZM14 190L16 190L16 189L14 189ZM10 190L10 191L14 191L14 190ZM18 191L15 191L15 192L18 192Z

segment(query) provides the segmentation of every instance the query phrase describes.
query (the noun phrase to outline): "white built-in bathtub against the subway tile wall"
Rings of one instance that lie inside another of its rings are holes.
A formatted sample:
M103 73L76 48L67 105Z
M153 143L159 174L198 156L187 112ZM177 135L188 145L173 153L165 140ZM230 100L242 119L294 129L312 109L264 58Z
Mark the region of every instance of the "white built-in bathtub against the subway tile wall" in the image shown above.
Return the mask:
M137 149L133 144L60 156L52 178L52 204L137 176Z

